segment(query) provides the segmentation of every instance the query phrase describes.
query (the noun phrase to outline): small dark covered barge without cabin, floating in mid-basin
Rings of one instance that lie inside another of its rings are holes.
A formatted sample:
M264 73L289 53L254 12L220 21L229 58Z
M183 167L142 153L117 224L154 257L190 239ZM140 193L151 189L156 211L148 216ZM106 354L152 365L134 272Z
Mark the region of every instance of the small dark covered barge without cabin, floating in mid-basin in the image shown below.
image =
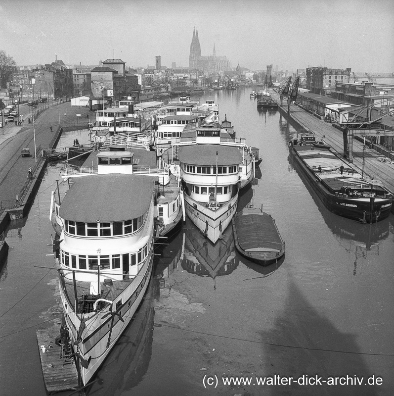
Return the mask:
M248 260L262 265L277 262L285 254L285 243L270 214L245 208L232 218L237 250Z

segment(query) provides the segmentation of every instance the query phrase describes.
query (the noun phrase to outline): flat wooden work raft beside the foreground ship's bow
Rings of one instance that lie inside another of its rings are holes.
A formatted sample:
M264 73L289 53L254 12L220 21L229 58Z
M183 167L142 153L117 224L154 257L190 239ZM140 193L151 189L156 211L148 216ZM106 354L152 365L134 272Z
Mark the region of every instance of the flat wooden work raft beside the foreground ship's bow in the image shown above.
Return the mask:
M68 358L63 347L55 344L56 337L60 335L60 322L60 319L51 320L49 327L37 330L45 388L49 394L78 389L74 359Z

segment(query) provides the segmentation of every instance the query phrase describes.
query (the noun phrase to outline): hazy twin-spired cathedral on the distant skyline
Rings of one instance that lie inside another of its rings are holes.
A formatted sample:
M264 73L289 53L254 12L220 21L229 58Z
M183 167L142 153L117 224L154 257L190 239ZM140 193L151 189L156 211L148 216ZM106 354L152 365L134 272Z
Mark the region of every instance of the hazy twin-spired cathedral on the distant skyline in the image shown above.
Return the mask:
M193 39L190 44L189 69L200 69L212 74L231 69L230 61L226 56L216 56L215 44L212 55L202 56L198 40L198 28L193 28Z

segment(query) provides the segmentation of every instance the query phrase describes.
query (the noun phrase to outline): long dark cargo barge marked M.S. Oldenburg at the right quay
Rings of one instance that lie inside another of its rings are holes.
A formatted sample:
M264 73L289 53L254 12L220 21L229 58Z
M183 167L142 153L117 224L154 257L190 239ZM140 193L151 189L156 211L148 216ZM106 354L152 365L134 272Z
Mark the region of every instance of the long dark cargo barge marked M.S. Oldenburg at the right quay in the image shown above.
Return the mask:
M364 223L387 218L392 194L378 181L365 180L329 148L313 146L313 137L289 142L290 153L318 197L333 213Z

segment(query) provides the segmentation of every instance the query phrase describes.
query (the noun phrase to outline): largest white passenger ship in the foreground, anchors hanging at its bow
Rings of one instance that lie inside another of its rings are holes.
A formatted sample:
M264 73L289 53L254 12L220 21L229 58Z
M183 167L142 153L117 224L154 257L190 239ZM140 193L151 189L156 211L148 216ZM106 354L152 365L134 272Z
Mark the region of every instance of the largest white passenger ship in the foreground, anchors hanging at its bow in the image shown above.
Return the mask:
M175 223L181 213L175 185L173 195L160 201L175 176L168 168L154 166L155 153L118 150L92 153L95 166L62 169L61 176L72 177L72 184L62 183L51 199L50 217L60 240L60 296L70 339L63 334L61 344L67 347L62 352L75 358L84 385L144 296L154 236L160 236L161 228L155 230L159 215L173 216ZM61 194L62 188L66 191Z

